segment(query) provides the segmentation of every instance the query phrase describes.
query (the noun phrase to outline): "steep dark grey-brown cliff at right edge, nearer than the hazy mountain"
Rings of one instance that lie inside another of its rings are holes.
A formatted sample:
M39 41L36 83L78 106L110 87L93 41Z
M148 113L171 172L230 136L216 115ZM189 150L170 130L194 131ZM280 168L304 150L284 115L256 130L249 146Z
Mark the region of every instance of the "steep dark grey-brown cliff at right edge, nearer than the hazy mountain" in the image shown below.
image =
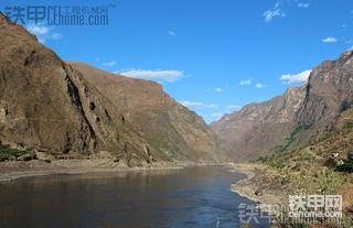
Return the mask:
M306 89L306 98L296 115L296 122L309 129L302 142L331 131L341 113L353 108L353 51L317 67Z

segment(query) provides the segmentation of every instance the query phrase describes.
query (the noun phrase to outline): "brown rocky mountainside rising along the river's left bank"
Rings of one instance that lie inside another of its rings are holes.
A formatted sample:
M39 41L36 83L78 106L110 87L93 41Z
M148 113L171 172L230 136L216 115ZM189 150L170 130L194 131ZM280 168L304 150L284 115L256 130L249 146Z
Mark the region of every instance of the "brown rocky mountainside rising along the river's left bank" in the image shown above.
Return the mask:
M204 121L160 85L67 64L2 14L0 140L53 154L108 151L129 165L224 159Z

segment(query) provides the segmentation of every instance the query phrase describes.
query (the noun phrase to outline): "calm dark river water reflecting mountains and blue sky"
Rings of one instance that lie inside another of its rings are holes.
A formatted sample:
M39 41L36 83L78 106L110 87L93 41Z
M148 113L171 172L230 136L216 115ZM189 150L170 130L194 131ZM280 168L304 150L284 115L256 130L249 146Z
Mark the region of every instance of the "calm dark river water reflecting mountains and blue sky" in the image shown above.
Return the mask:
M239 227L225 167L53 175L0 184L0 227ZM257 227L268 227L266 224Z

